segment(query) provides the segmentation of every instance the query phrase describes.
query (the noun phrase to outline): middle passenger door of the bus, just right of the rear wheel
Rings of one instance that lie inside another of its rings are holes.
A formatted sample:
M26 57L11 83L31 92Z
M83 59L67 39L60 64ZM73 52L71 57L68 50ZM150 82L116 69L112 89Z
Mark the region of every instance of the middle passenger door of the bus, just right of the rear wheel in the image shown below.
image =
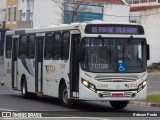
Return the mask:
M35 91L42 93L43 84L43 41L44 34L36 34L36 58L35 58Z

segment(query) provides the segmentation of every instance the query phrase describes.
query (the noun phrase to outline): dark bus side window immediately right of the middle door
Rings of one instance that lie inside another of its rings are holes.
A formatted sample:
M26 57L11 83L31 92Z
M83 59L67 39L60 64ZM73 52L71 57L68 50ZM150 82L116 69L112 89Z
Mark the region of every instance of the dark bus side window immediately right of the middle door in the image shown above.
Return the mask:
M53 34L47 33L45 36L44 59L50 60L53 54Z

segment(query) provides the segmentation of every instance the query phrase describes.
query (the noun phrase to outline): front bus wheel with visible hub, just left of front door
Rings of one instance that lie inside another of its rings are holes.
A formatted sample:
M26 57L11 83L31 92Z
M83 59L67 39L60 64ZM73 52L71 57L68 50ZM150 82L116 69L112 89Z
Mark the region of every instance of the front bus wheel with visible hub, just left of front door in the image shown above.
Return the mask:
M60 86L60 101L61 104L65 107L72 107L73 106L73 100L68 99L68 91L66 84L62 84Z

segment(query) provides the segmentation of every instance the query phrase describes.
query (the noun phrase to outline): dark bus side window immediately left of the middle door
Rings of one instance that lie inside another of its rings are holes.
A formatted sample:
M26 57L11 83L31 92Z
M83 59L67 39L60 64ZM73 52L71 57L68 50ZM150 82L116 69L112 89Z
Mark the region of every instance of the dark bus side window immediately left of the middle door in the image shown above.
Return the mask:
M27 51L27 58L32 59L35 57L35 35L29 35Z

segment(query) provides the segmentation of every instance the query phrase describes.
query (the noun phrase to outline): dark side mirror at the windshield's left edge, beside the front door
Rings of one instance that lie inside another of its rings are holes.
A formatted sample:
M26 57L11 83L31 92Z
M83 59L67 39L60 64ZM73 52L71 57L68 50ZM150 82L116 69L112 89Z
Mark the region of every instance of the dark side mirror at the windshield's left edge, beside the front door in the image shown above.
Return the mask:
M83 46L82 46L82 44L77 44L76 46L75 46L75 48L76 48L76 58L78 59L78 61L82 61L82 59L83 59Z

